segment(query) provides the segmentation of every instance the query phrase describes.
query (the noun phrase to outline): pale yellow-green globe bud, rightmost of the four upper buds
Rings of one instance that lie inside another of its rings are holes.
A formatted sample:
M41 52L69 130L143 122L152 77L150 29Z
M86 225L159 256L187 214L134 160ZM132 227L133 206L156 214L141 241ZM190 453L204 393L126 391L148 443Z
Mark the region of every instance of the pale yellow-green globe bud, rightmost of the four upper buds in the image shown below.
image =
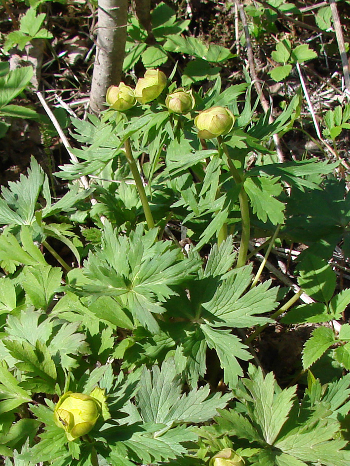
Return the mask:
M201 111L194 118L198 138L213 139L229 133L233 128L234 116L228 108L212 107Z

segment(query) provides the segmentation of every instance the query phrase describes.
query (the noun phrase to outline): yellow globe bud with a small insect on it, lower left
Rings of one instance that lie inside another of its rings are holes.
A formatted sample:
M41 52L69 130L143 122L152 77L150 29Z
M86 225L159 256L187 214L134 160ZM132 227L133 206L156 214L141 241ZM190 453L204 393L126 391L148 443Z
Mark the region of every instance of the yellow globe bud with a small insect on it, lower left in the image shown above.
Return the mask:
M58 400L54 415L56 425L66 431L69 441L88 433L100 416L101 403L83 393L67 392Z

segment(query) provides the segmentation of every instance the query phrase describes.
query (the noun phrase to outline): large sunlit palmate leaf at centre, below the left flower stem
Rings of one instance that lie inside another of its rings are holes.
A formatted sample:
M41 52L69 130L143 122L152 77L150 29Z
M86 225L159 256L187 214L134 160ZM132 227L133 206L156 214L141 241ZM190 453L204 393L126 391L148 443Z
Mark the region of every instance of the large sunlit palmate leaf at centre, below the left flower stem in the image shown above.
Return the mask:
M171 286L194 278L199 259L184 258L170 242L156 241L157 230L144 233L138 225L130 237L105 226L101 249L89 254L84 274L91 283L76 287L78 294L120 296L120 302L150 331L159 327L152 313L164 312L162 303L176 292Z

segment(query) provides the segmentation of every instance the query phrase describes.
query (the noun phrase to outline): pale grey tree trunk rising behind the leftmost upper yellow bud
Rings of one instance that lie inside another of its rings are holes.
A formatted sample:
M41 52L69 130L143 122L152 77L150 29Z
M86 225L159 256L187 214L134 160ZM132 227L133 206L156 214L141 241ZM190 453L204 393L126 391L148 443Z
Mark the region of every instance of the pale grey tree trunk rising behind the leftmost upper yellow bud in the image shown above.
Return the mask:
M121 79L127 24L127 0L98 0L96 55L92 74L90 110L106 108L106 91Z

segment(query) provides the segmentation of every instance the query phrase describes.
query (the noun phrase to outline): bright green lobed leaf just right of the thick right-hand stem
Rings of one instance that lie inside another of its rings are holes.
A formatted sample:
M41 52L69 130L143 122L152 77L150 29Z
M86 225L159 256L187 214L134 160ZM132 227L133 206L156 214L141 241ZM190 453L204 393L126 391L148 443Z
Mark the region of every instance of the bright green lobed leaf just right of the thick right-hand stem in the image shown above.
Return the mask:
M244 188L252 204L253 213L260 220L266 222L269 218L273 225L284 222L284 204L275 199L282 191L278 179L250 177L244 181Z

